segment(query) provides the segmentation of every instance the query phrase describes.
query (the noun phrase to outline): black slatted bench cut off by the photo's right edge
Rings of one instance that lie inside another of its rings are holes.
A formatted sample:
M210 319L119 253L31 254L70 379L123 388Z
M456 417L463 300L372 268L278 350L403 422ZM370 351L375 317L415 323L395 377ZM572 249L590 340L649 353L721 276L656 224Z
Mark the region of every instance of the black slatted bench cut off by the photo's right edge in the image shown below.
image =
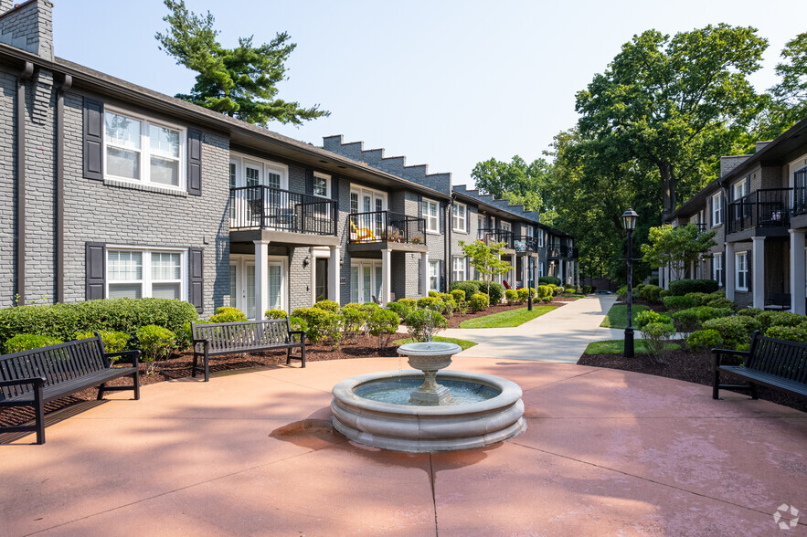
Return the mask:
M712 397L718 399L720 388L749 390L757 398L757 384L782 392L807 397L807 344L787 342L754 332L748 351L712 349L712 372L715 376ZM743 365L723 365L724 356L741 356ZM720 372L747 378L749 384L720 384Z

